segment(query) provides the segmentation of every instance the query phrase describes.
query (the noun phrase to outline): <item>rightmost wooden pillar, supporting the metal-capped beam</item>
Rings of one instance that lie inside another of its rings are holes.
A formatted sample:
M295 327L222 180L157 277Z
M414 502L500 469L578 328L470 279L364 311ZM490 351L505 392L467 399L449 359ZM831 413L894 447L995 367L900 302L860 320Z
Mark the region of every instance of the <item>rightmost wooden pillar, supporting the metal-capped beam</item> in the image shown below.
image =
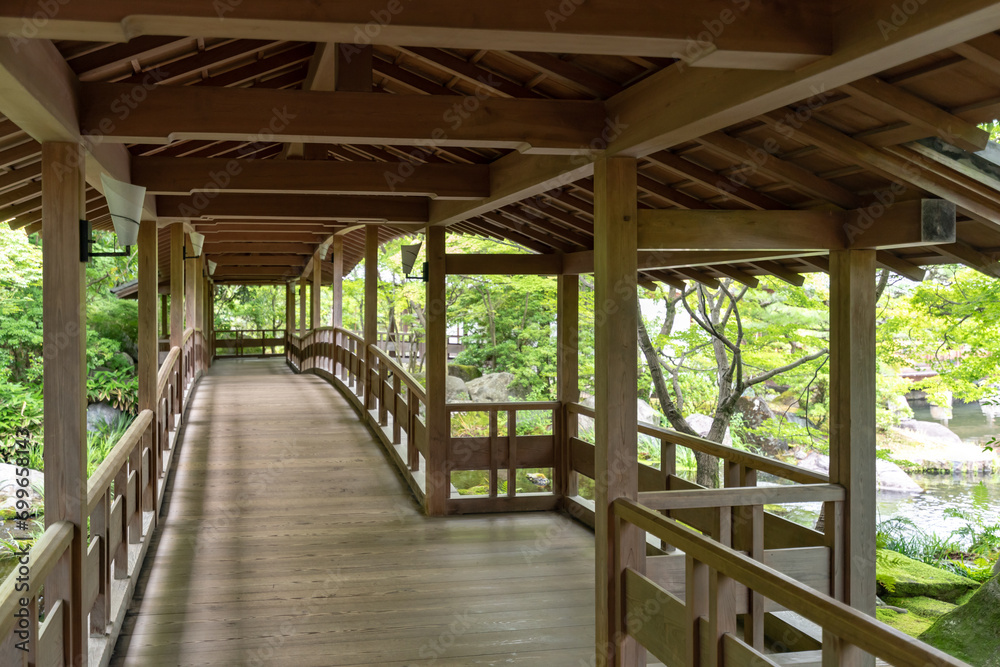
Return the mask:
M830 482L847 489L834 593L875 615L875 251L830 252ZM827 517L827 521L831 518ZM836 550L835 550L836 551ZM824 636L824 664L872 656Z

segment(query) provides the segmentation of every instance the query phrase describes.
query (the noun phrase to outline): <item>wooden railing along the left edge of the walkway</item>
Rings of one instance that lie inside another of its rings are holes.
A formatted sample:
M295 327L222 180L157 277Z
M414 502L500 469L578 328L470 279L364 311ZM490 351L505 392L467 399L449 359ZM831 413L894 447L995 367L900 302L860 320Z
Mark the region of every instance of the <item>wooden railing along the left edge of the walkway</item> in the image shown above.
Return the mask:
M160 366L154 409L139 413L87 480L82 599L46 596L43 605L39 598L46 576L72 543L74 526L68 521L49 525L28 553L26 569L16 568L0 585L0 664L64 664L74 604L89 610L90 655L110 656L163 500L173 459L171 435L206 367L206 350L201 331L185 332L181 346ZM18 648L21 641L27 651Z

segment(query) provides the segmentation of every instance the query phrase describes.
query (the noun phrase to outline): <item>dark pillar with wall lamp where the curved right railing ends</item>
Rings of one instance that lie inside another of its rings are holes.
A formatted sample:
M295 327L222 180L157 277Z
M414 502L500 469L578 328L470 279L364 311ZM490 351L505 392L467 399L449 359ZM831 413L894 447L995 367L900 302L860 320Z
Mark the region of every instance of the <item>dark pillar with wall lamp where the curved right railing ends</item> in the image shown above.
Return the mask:
M448 510L451 479L447 470L450 425L445 404L448 380L448 313L445 281L444 227L427 228L427 514L440 516Z

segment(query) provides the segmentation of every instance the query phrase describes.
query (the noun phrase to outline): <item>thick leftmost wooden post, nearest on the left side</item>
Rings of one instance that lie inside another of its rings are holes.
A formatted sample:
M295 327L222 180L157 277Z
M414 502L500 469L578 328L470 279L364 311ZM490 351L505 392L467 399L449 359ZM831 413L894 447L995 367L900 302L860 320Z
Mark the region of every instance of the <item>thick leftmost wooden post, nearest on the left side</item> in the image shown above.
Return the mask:
M87 664L90 611L84 605L87 556L86 264L79 144L42 144L42 328L45 407L45 525L73 524L73 542L45 580L49 608L64 600L63 663ZM36 639L33 637L32 639Z

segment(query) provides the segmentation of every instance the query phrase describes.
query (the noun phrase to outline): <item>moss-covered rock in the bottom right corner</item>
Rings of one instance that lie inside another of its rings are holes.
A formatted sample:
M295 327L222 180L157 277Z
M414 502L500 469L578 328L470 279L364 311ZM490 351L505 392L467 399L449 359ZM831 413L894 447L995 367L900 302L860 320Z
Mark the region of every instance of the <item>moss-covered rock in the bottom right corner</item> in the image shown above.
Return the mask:
M1000 577L939 618L921 641L979 667L1000 667Z

